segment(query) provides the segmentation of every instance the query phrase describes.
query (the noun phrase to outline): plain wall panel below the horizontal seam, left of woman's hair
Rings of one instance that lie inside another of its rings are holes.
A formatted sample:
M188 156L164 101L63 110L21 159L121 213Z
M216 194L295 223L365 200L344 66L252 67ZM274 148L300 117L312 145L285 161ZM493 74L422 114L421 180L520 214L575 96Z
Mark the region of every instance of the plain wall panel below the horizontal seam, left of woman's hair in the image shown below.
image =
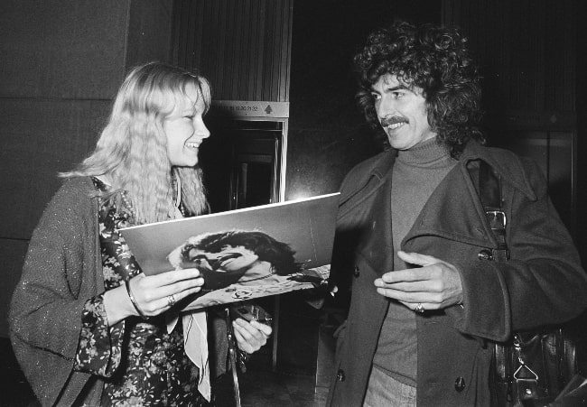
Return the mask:
M0 237L29 239L68 171L93 150L106 100L0 99Z

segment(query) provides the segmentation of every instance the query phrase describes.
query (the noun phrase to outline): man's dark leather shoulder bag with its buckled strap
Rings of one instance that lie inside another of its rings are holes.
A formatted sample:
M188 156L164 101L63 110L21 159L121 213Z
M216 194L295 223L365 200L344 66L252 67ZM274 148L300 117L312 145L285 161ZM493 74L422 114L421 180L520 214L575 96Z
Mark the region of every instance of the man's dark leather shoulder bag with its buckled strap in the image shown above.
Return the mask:
M507 216L502 208L501 179L486 162L469 167L498 248L487 251L489 260L509 260ZM562 326L516 332L508 342L495 343L490 377L494 405L547 406L574 378L578 363L575 340ZM587 387L587 386L586 386ZM581 404L583 405L583 404Z

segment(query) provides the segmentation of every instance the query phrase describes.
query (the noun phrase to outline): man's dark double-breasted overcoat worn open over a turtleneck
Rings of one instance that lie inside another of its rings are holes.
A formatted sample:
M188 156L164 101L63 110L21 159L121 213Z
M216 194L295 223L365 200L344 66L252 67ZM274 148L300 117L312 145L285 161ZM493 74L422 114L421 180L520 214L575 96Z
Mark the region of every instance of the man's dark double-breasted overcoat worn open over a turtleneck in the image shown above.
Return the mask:
M360 163L342 184L332 278L351 301L340 329L327 405L362 405L387 299L377 277L394 269L391 173L395 153ZM501 175L511 259L482 259L496 241L468 166ZM587 279L571 237L533 162L470 142L416 218L401 250L454 264L463 306L416 314L418 406L489 405L491 341L512 331L573 319L587 307Z

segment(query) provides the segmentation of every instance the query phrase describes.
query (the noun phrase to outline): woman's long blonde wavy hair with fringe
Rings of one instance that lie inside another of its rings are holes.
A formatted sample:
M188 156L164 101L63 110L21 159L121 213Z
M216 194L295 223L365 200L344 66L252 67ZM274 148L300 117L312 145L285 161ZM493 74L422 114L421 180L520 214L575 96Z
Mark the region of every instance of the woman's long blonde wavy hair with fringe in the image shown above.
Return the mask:
M193 85L210 107L210 84L197 73L160 62L132 69L118 90L95 151L61 177L107 175L135 211L134 223L177 217L173 177L182 185L182 206L191 215L207 211L199 167L173 167L167 157L164 120Z

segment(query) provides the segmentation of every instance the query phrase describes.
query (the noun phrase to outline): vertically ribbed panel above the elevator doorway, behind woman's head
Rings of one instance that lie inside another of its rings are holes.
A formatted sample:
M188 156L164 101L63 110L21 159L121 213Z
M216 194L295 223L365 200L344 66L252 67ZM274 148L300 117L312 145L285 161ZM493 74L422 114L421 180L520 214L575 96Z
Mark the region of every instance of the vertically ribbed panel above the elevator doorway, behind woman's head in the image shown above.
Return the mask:
M173 63L200 69L215 99L287 102L292 3L175 0Z

